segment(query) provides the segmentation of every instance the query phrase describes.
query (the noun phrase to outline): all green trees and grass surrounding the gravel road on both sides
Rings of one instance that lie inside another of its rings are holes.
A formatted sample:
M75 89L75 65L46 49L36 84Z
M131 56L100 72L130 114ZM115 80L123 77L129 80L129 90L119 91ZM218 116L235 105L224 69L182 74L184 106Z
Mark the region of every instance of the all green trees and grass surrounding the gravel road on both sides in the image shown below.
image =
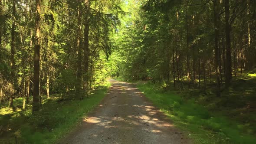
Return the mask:
M108 77L196 141L255 142L256 0L0 0L0 143L53 143Z

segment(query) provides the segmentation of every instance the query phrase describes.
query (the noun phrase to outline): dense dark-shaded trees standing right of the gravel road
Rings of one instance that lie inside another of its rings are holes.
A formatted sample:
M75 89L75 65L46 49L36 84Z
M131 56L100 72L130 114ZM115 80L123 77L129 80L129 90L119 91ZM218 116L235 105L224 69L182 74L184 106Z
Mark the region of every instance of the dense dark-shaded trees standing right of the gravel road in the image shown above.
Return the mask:
M148 0L127 31L123 75L164 82L173 75L174 83L197 87L216 77L217 89L228 87L255 68L255 6L253 0Z

